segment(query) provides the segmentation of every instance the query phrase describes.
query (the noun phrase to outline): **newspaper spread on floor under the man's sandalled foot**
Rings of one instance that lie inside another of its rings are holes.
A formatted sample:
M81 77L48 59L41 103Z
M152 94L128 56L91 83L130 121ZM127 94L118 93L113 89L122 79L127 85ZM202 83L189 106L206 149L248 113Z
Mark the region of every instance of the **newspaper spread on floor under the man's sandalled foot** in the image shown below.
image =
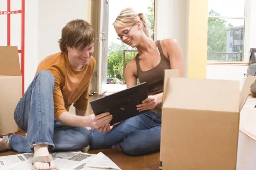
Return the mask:
M58 170L96 170L113 169L121 170L111 159L102 152L88 154L82 152L53 152L54 164ZM32 169L30 159L33 153L18 154L0 157L0 169L28 170Z

